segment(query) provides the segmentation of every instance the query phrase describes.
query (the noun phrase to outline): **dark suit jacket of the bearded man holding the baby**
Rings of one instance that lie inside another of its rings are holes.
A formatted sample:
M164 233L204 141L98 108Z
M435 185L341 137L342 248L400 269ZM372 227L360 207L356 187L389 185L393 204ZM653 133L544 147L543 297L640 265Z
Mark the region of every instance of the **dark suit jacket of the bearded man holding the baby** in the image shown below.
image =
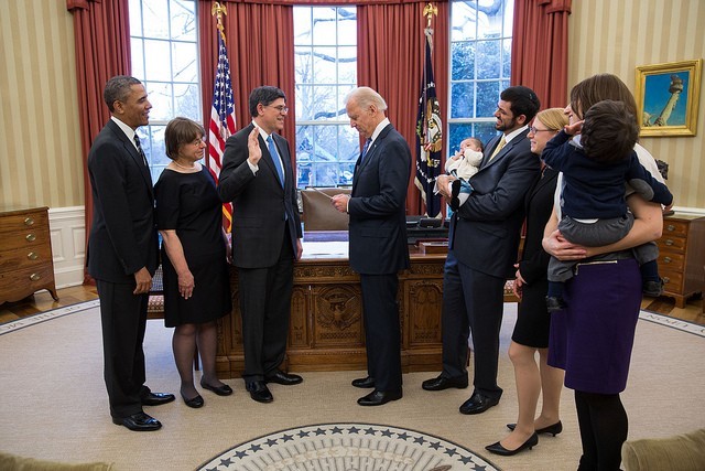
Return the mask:
M451 221L457 259L494 277L513 278L516 271L523 201L540 169L528 133L509 141L491 161L500 137L487 144L479 171L469 179L474 192Z

